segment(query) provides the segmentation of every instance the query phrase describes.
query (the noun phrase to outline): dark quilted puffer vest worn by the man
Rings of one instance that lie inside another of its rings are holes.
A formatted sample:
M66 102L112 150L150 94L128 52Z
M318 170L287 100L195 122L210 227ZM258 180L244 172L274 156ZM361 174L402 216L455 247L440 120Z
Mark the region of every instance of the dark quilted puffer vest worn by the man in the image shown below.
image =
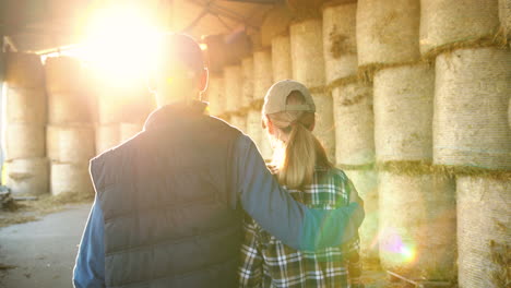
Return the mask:
M105 218L107 287L236 287L241 215L231 164L240 132L167 106L91 163Z

